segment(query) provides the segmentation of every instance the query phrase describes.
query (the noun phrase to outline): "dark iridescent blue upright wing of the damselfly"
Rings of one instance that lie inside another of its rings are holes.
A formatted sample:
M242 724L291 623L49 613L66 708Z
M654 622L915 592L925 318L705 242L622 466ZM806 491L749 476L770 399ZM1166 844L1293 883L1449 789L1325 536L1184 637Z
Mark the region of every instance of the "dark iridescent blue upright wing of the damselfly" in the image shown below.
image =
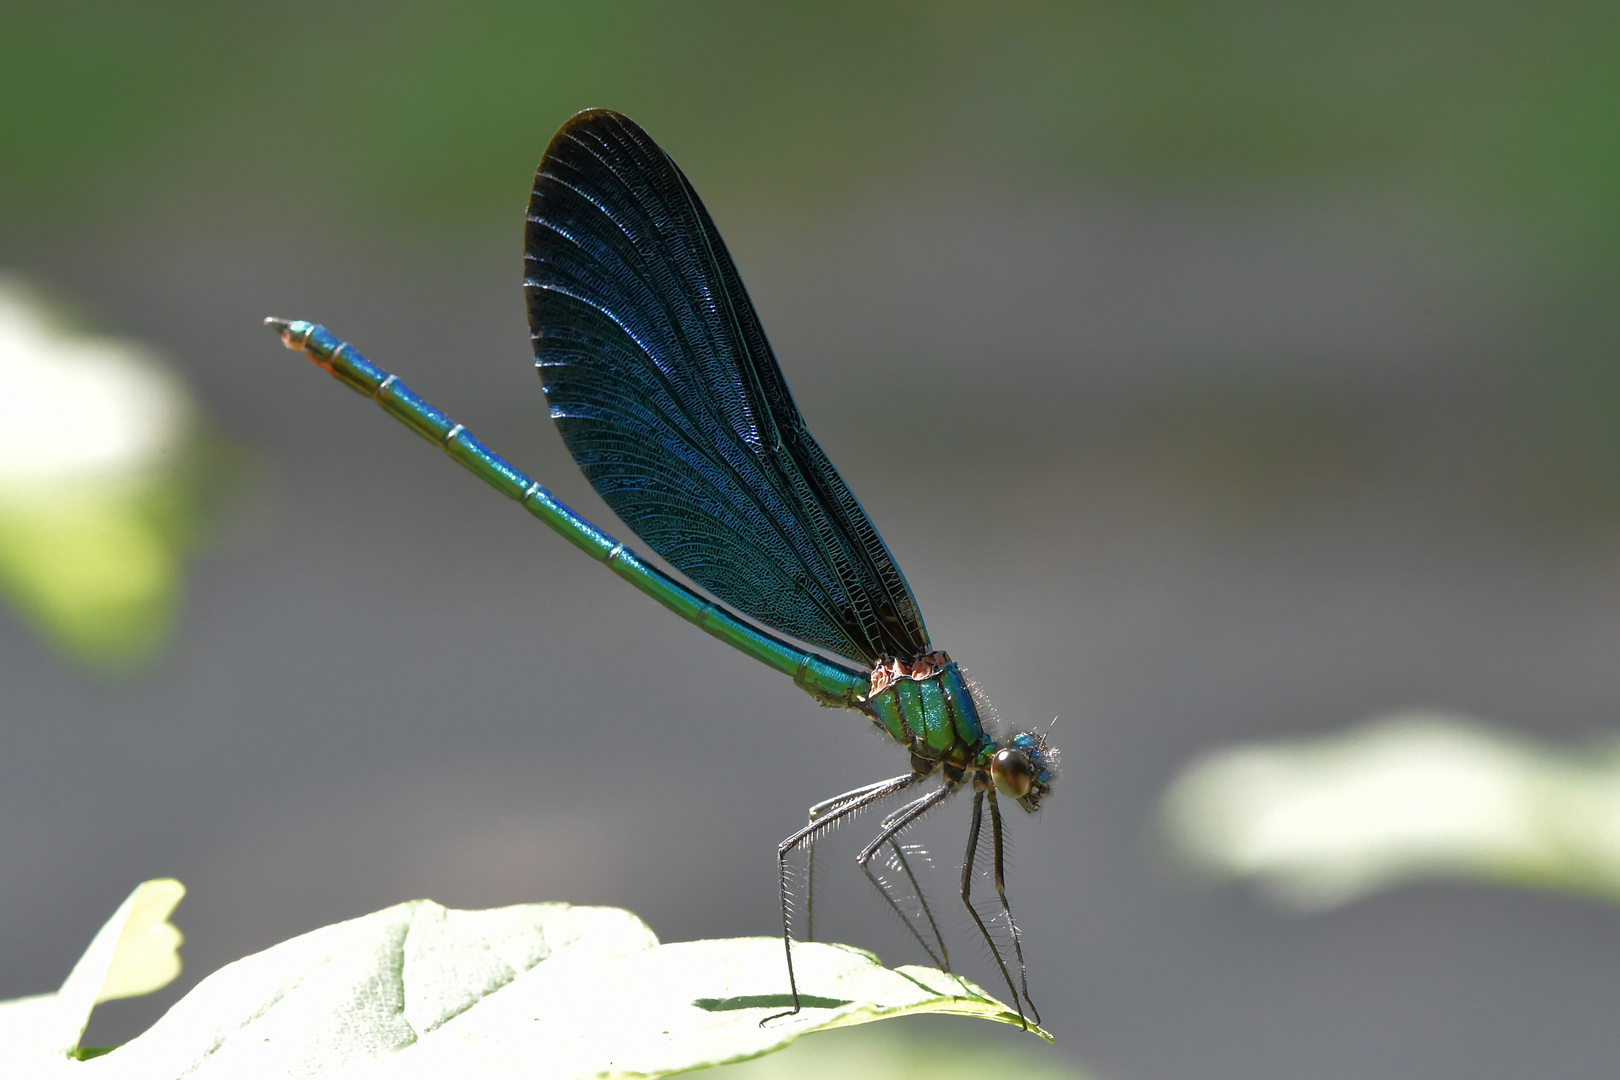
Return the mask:
M838 656L928 653L917 601L805 429L714 222L642 128L591 110L557 131L523 259L551 416L648 547Z

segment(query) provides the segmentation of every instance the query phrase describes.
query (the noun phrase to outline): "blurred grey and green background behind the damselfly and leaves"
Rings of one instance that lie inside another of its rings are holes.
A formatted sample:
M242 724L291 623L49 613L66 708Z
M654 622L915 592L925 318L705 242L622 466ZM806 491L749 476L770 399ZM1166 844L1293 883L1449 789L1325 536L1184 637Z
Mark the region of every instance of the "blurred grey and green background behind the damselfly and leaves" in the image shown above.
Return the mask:
M306 317L619 531L531 371L572 112L726 235L933 640L1063 776L1013 821L1053 1054L1113 1080L1607 1077L1620 916L1427 886L1290 918L1162 855L1199 751L1396 706L1620 712L1609 5L6 5L0 262L246 452L175 636L0 614L0 996L141 879L186 973L389 904L766 934L804 808L904 769L287 353ZM967 805L928 823L951 904ZM917 962L844 831L820 928ZM988 1025L930 1038L1017 1040Z

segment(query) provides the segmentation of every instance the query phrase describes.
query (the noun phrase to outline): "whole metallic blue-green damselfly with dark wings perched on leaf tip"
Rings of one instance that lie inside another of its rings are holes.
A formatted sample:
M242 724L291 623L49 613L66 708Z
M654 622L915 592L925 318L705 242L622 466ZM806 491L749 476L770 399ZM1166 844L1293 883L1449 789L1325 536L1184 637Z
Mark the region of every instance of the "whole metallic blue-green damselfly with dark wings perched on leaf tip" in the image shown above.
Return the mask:
M930 643L883 538L810 437L690 181L629 118L582 112L539 162L523 262L535 361L564 442L614 513L700 589L643 562L322 327L267 322L288 348L374 398L659 604L792 675L821 704L862 712L906 748L906 772L816 803L805 827L778 847L794 1007L761 1023L802 1007L789 857L810 852L860 810L935 779L936 787L883 819L855 861L923 950L949 970L899 840L927 811L969 792L962 902L1013 1002L1022 997L1038 1023L1003 884L1000 800L1034 811L1051 787L1056 751L1038 732L1000 740L985 732L974 688ZM972 902L987 808L1011 955ZM873 866L880 855L894 879Z

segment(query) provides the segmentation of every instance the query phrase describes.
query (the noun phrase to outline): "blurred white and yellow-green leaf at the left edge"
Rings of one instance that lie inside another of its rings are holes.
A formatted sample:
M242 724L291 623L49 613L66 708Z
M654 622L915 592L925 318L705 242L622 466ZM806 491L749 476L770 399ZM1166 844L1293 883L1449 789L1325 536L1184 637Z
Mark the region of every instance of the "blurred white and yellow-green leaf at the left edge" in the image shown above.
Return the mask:
M52 641L94 665L157 649L215 458L151 351L0 279L0 593Z

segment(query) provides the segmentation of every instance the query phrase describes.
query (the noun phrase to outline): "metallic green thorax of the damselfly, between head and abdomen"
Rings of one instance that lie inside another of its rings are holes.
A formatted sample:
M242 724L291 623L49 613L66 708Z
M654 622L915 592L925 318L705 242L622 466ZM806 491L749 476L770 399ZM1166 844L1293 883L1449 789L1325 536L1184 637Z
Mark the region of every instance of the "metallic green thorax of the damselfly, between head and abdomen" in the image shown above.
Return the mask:
M920 661L888 661L872 670L862 711L925 761L983 764L995 750L978 722L978 706L962 669L944 653Z

